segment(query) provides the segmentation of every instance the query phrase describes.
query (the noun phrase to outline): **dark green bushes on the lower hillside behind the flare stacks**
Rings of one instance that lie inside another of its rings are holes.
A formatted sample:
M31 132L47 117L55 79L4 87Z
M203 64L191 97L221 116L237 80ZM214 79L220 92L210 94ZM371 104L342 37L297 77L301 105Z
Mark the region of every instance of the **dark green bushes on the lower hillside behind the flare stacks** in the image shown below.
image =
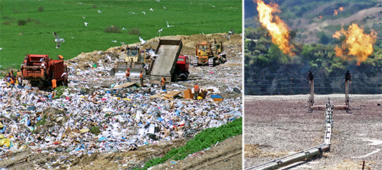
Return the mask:
M271 41L264 28L244 28L244 94L307 94L306 76L315 75L315 93L343 93L344 74L353 75L351 93L382 93L381 42L365 62L344 60L335 56L336 43L343 41L327 37L333 44L293 43L295 56L286 56ZM324 40L322 40L324 41ZM355 59L356 56L349 56ZM291 82L292 81L292 82Z

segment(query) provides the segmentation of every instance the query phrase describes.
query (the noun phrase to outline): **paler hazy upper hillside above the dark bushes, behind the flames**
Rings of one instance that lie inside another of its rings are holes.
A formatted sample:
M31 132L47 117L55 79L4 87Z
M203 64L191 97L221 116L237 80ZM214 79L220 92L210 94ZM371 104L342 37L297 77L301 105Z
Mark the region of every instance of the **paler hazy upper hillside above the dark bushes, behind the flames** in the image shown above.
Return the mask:
M265 1L269 4L271 1ZM331 37L335 31L341 29L342 24L347 27L351 23L360 24L366 31L370 28L382 37L382 2L376 0L279 0L279 15L288 27L297 33L294 42L304 44L330 44L322 41ZM260 27L258 22L257 4L244 0L244 28ZM333 15L340 7L342 11ZM321 41L320 41L321 40Z

